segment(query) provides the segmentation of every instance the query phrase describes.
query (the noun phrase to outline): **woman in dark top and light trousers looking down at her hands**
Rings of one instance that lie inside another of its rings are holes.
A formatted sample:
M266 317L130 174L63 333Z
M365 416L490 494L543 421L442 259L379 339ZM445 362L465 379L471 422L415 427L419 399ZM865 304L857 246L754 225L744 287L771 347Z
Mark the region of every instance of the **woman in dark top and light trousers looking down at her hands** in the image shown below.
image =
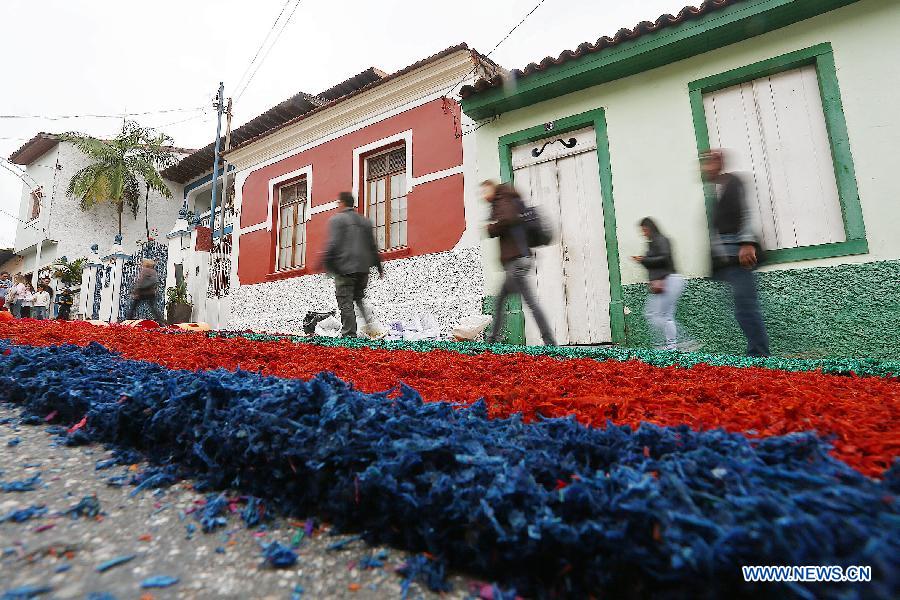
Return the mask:
M682 339L679 344L681 327L675 322L675 309L684 292L684 279L675 272L669 239L660 233L650 217L641 219L640 227L647 238L647 253L633 258L646 267L650 280L650 295L644 304L644 316L655 330L656 337L665 340L662 349L676 350L679 346L683 350L695 349L693 346L696 343L692 341Z

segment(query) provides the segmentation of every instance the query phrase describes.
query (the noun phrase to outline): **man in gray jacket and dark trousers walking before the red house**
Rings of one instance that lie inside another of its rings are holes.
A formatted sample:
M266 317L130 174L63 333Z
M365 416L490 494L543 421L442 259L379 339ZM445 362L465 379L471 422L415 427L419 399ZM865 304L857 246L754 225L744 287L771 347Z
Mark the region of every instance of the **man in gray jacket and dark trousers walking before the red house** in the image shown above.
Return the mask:
M356 337L353 305L359 307L366 325L371 325L371 314L363 304L369 270L378 267L378 274L384 277L384 267L375 244L372 222L354 208L353 194L341 192L339 201L341 211L328 223L325 268L334 275L335 295L341 311L341 336Z

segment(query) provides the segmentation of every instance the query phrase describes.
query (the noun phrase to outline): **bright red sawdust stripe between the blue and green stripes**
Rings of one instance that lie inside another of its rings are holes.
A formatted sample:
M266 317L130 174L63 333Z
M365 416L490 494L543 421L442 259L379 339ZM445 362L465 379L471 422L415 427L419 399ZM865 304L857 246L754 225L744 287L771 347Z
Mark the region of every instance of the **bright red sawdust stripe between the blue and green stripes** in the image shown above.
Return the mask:
M97 342L126 358L188 370L244 369L299 379L327 371L364 392L390 390L402 382L429 402L484 399L488 414L498 418L573 415L595 427L607 421L632 427L647 422L700 431L723 428L752 437L815 431L831 441L833 456L870 476L890 468L900 454L897 377L348 348L29 320L0 324L0 337L34 346Z

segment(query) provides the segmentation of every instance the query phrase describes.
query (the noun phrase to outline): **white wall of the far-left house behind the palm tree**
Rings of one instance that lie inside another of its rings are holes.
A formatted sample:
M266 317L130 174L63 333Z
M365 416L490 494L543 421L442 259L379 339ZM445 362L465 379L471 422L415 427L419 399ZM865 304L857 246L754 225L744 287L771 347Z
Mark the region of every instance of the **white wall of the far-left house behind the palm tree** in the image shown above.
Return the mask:
M55 171L57 160L62 167L59 171ZM63 142L26 167L26 172L43 186L44 199L39 219L30 226L20 222L16 229L15 250L21 253L25 260L23 266L25 271L34 269L34 246L38 239L57 242L44 243L40 266L48 265L60 256L69 259L88 256L92 244L100 245L100 255L103 256L113 245L118 232L115 207L107 203L83 211L77 199L66 195L69 180L88 163L89 159L75 146ZM54 172L58 174L55 193ZM181 208L183 197L181 186L171 182L169 185L172 198L163 198L155 192L150 194L148 210L150 229L152 231L155 228L158 236L165 236L172 228ZM27 221L30 210L30 190L23 186L19 218ZM42 231L44 229L46 233ZM122 244L126 252L136 250L136 242L146 239L143 199L137 217L134 217L126 207L122 215L122 235Z

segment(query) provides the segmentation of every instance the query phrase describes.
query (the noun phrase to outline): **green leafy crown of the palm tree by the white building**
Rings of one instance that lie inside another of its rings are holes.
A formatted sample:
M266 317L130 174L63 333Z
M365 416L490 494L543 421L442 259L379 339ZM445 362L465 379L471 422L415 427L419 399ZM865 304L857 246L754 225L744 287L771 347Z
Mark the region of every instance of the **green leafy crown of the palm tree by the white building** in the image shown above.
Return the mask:
M67 193L81 201L82 210L101 202L114 203L119 213L119 235L122 234L122 213L126 205L137 217L141 181L146 188L145 200L149 198L150 190L164 198L172 197L172 191L159 174L176 162L172 138L164 133L127 121L122 125L122 131L110 140L80 133L67 133L62 139L74 144L92 160L75 173Z

